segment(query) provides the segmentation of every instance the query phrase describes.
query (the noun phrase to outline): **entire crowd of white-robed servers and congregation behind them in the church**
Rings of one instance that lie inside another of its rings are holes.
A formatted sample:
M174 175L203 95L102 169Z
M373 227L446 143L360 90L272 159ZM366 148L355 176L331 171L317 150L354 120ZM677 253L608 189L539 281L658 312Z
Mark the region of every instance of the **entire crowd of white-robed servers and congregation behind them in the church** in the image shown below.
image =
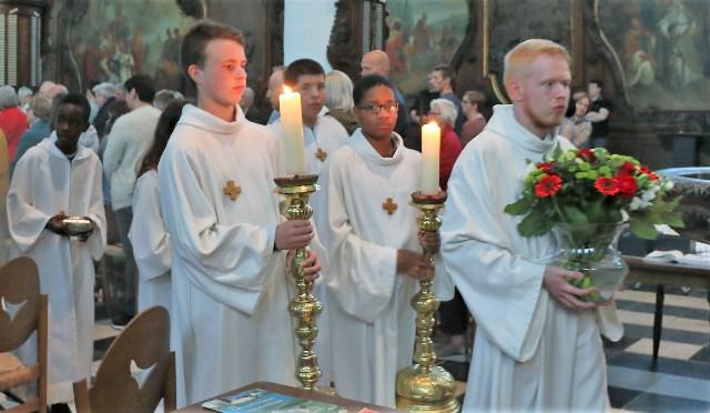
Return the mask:
M486 97L459 98L447 66L433 68L407 105L379 50L363 56L355 82L311 59L274 68L266 115L247 87L237 30L202 21L180 48L192 101L156 91L144 74L85 94L45 82L22 101L0 88L0 141L12 164L8 255L34 259L49 294L54 412L67 407L71 383L91 375L92 260L105 250L108 220L126 263L112 322L169 309L180 406L255 381L297 384L285 269L291 251L310 245L303 272L325 304L321 383L341 395L395 405L396 373L413 357L409 300L436 264L447 346L464 344L469 312L477 323L465 409L608 409L596 304L579 300L591 290L548 263L552 235L524 239L503 211L527 161L608 133L598 128L610 110L599 82L575 94L565 119L571 79L561 46L528 40L506 56L513 103L489 121ZM303 172L320 177L313 220L284 220L274 191L286 174L284 85L301 93ZM409 205L426 122L442 130L439 187L449 200L440 236L419 232ZM89 230L69 231L70 216ZM422 249L440 254L433 263Z

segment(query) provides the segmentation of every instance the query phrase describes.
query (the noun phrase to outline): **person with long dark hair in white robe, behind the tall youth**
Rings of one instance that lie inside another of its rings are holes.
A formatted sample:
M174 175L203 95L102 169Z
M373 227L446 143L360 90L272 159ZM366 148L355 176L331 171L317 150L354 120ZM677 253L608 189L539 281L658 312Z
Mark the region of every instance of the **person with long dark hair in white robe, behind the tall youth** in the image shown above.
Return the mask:
M158 162L168 145L168 140L178 124L182 108L187 102L175 100L164 108L158 120L151 149L141 162L135 190L133 191L133 215L129 239L138 265L138 311L153 305L172 309L170 291L170 264L172 250L170 234L165 231L160 212Z

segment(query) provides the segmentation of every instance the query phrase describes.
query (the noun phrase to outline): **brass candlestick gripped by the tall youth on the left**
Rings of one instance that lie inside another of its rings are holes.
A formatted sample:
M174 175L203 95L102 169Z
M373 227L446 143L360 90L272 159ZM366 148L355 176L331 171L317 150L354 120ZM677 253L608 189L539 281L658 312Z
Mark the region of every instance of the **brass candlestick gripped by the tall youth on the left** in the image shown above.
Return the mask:
M294 175L276 178L278 193L286 198L284 215L288 220L308 220L313 216L313 209L308 205L308 197L318 190L318 175ZM303 278L303 262L308 256L305 248L297 249L291 264L291 273L296 285L296 295L288 303L291 315L296 319L294 330L301 344L301 354L296 361L296 379L304 390L316 390L315 384L321 379L318 359L313 350L318 328L316 318L323 310L323 304L312 294L313 282Z

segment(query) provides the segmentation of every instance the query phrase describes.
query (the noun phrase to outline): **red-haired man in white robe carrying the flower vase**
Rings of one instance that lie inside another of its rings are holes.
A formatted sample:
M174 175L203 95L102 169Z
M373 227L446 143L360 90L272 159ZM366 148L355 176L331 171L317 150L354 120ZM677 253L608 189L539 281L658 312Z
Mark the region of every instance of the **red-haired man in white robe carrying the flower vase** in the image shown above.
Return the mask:
M513 104L494 108L448 183L442 258L477 322L464 411L609 410L599 333L620 339L613 306L581 301L594 289L568 283L581 274L549 264L559 251L555 235L524 238L520 219L504 212L520 195L528 162L574 148L556 135L569 59L541 39L506 54Z

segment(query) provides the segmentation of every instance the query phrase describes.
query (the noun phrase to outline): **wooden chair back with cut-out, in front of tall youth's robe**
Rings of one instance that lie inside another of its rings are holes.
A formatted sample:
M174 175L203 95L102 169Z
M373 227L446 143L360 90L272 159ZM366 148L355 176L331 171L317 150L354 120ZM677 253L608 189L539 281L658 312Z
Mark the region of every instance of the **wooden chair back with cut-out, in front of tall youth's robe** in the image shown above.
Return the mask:
M140 385L131 364L144 371ZM138 314L106 352L95 383L74 383L78 413L154 412L161 399L164 411L175 410L175 355L170 351L170 315L163 306Z

